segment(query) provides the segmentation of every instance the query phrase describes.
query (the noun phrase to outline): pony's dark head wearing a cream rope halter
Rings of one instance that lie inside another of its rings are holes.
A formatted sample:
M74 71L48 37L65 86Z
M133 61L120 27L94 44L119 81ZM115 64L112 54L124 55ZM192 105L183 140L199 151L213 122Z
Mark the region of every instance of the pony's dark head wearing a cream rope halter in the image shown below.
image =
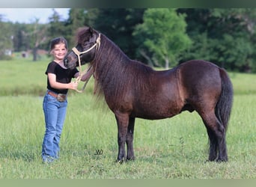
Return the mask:
M65 67L73 69L93 61L99 47L100 34L97 31L91 27L79 29L76 47L73 47L64 58Z

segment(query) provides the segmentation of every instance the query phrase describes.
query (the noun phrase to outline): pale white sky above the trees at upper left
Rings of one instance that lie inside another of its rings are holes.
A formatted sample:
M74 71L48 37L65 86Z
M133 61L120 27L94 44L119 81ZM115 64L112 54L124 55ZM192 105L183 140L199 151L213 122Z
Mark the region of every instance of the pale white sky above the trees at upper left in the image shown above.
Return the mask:
M52 16L53 8L0 8L3 21L31 23L39 19L40 23L48 22ZM67 19L70 8L54 8L61 18Z

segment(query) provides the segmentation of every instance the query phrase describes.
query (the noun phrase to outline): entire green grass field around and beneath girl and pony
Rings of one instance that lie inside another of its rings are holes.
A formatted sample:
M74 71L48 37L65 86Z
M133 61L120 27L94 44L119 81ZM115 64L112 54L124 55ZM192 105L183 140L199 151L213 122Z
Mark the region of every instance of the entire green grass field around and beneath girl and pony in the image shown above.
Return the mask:
M136 159L115 163L115 117L95 101L91 79L85 93L70 91L61 159L43 165L42 96L48 62L0 61L0 179L256 178L256 75L243 73L230 73L235 96L227 133L227 163L205 162L207 132L195 112L165 120L136 119ZM98 151L100 155L96 155Z

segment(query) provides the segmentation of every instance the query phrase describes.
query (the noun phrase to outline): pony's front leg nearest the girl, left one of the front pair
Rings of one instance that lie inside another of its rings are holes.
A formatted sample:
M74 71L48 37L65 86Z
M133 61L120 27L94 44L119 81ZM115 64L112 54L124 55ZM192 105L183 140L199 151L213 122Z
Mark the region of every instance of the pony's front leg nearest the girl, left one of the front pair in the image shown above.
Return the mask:
M115 119L118 123L118 160L123 162L125 159L125 143L127 141L127 127L129 123L129 115L117 112Z

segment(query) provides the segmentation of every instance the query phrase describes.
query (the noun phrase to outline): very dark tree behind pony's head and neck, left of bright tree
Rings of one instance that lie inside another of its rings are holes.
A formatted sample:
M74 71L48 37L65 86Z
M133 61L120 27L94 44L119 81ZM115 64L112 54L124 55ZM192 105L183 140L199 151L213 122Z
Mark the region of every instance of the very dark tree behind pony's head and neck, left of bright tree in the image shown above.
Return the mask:
M106 34L129 58L137 58L137 43L132 38L135 25L142 22L144 8L101 8L89 9L87 22Z

